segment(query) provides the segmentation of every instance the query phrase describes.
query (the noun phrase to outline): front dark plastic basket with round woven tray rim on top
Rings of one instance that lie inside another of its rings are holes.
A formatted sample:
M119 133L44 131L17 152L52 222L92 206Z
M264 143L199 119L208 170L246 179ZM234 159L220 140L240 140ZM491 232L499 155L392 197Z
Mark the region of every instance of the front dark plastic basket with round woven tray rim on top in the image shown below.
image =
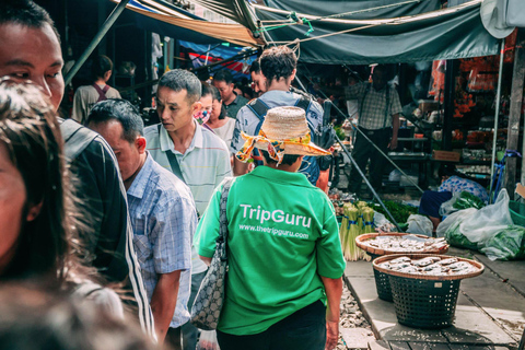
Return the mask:
M385 273L389 278L397 319L400 324L427 329L448 327L454 320L457 295L462 279L479 276L483 272L483 265L464 258L478 268L477 271L452 276L412 275L383 269L378 265L392 259L407 256L410 259L421 259L428 256L438 256L442 259L451 258L447 255L433 254L397 254L383 256L374 260L374 271Z

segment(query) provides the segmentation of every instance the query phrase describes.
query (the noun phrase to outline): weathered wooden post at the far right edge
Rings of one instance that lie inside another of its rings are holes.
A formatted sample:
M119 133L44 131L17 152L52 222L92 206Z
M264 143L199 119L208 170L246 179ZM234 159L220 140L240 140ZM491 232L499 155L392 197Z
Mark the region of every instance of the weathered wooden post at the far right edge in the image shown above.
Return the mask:
M509 113L508 150L518 150L520 121L522 118L523 83L525 80L525 30L517 31L514 52L514 70L512 72L511 107ZM495 136L494 136L495 137ZM517 158L508 158L505 164L504 187L511 199L514 199L516 187Z

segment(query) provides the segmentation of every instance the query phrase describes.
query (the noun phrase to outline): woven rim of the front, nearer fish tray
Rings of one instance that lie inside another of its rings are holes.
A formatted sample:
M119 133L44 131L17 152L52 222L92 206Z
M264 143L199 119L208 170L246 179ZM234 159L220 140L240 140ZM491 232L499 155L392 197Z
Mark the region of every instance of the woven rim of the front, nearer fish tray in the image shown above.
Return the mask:
M415 273L406 273L406 272L399 272L399 271L393 271L390 269L384 269L380 267L378 265L385 261L393 260L395 258L406 256L409 257L410 259L422 259L429 256L435 256L441 259L450 259L450 258L456 258L458 261L465 261L470 265L474 265L476 268L478 268L478 271L474 271L470 273L463 273L463 275L451 275L451 276L428 276L428 275L415 275ZM479 276L483 273L485 271L485 266L481 262L471 260L471 259L465 259L460 258L457 256L452 256L452 255L438 255L438 254L390 254L390 255L385 255L382 257L378 257L372 261L372 265L375 270L390 275L390 276L397 276L397 277L405 277L405 278L410 278L415 280L429 280L429 281L453 281L453 280L463 280L466 278L472 278L476 276Z

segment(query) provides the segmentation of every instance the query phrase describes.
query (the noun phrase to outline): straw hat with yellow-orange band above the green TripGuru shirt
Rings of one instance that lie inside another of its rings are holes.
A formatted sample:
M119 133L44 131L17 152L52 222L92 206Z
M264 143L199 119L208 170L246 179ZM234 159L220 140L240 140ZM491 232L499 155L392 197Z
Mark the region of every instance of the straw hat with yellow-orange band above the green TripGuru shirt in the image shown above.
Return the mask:
M306 115L299 107L271 108L266 114L258 136L247 136L244 132L242 136L246 142L236 154L242 162L249 160L254 148L267 151L278 164L284 154L331 154L312 142Z

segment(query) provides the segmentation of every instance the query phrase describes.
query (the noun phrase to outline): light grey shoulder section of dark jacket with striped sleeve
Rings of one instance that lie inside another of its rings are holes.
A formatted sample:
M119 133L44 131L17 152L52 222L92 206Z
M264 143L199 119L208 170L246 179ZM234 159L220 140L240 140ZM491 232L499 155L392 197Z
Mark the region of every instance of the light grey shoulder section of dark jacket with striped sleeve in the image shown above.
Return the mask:
M60 122L61 121L61 122ZM73 119L59 119L63 139L63 154L68 163L74 161L80 153L98 136Z

